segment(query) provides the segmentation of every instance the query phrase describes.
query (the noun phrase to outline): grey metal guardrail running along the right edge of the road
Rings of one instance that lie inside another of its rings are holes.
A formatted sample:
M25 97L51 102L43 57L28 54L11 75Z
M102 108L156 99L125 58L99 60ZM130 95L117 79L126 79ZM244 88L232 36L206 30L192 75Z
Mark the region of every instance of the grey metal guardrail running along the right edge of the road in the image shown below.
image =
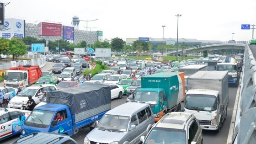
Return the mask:
M256 60L248 43L245 44L241 77L238 107L234 107L233 112L236 111L235 123L231 120L230 125L233 133L229 131L227 144L256 144Z

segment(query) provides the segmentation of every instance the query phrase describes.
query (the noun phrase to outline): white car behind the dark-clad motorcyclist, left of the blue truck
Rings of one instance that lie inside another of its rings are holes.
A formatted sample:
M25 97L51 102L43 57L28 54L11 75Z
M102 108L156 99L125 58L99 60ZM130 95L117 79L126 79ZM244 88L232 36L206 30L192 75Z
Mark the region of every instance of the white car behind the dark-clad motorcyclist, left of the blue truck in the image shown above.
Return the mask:
M32 99L38 104L43 95L43 91L56 91L57 87L55 85L51 84L45 84L45 85L32 85L21 92L18 93L17 96L14 96L8 103L9 108L18 108L22 109L21 105L23 103L27 103L29 95L32 96Z

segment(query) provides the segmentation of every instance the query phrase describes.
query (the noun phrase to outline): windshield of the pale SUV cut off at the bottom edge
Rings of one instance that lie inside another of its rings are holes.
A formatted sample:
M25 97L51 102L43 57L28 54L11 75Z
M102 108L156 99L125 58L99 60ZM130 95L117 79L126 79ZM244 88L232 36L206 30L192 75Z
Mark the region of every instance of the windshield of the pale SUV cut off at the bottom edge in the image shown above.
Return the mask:
M153 128L144 144L186 144L186 131L174 128Z

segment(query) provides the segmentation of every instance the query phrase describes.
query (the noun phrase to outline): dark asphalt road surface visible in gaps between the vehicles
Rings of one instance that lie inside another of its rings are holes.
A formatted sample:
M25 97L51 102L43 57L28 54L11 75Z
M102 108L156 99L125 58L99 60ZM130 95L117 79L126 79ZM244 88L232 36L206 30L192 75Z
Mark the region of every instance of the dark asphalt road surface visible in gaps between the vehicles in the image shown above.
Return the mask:
M85 68L86 69L86 68ZM58 74L55 74L58 75ZM225 144L227 142L227 137L229 133L229 126L231 122L232 112L234 109L235 96L237 92L237 87L229 87L229 104L228 104L228 116L226 121L223 123L223 127L219 133L215 131L203 130L203 143L204 144ZM126 102L127 96L123 96L122 99L113 99L111 107L117 107ZM184 109L184 103L181 104L182 109ZM71 136L72 139L79 144L84 143L84 138L86 134L89 133L89 128L81 129L77 134ZM19 135L5 139L1 141L1 144L10 144L15 139L18 139Z

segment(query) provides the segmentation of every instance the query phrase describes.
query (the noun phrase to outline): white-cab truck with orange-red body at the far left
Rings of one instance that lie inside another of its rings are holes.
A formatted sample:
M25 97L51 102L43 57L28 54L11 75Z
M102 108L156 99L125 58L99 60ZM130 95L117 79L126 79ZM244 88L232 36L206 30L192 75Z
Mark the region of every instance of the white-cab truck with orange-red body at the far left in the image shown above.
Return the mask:
M24 89L28 84L34 84L40 77L42 71L38 65L19 65L5 71L4 85Z

